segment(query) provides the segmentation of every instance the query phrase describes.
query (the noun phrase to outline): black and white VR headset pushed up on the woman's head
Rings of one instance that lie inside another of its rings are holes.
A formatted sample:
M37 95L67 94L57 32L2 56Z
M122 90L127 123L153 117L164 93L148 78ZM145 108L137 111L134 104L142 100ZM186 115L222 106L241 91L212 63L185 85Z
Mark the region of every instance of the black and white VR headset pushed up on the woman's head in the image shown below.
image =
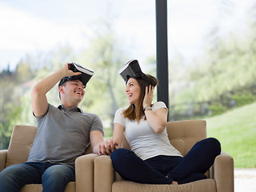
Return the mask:
M128 82L129 78L143 78L145 82L150 85L149 78L147 78L146 74L142 72L141 67L138 64L138 60L136 59L127 62L126 65L118 71L118 74L122 76L126 83Z

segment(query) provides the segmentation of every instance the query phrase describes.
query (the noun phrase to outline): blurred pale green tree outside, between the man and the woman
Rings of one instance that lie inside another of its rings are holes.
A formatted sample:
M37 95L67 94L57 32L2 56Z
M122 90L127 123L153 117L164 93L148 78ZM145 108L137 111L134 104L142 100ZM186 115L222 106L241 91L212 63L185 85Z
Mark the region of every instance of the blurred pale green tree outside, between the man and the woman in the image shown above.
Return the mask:
M94 70L82 104L89 106L87 110L97 112L107 126L112 125L115 111L125 100L125 94L122 94L125 86L118 70L127 61L110 21L107 19L101 22L101 30L95 32L90 45L86 50L82 50L78 59L82 65Z

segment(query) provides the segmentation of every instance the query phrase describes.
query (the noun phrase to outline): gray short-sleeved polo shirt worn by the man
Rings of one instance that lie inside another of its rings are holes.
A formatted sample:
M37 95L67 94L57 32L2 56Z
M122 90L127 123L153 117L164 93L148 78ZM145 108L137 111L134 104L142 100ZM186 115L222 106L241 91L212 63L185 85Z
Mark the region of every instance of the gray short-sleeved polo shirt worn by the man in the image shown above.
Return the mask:
M90 144L90 131L103 134L102 121L96 114L83 113L77 106L48 104L46 114L35 117L38 134L30 150L28 162L58 162L74 167L76 158Z

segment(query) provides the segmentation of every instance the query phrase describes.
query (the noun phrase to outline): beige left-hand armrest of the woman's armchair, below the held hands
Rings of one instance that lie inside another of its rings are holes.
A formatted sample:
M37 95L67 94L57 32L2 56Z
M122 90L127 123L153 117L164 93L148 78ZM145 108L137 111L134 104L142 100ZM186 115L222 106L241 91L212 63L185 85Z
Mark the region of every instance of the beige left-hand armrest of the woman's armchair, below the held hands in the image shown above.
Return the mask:
M110 156L102 155L94 159L94 192L111 192L114 169Z

